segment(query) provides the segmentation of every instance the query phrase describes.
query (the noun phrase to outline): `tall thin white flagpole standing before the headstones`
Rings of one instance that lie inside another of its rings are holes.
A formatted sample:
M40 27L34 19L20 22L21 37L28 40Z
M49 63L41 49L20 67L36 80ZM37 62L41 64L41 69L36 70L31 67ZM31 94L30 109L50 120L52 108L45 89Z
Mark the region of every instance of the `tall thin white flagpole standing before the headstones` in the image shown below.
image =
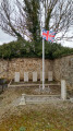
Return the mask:
M45 39L42 38L42 90L45 90Z

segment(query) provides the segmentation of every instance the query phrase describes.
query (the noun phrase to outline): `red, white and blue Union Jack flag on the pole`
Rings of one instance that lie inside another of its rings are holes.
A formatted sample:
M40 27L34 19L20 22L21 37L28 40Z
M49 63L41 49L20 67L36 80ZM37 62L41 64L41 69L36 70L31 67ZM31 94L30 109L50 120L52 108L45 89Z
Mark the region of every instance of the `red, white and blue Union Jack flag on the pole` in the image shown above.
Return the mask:
M53 41L56 36L56 32L53 31L42 31L42 38L49 41Z

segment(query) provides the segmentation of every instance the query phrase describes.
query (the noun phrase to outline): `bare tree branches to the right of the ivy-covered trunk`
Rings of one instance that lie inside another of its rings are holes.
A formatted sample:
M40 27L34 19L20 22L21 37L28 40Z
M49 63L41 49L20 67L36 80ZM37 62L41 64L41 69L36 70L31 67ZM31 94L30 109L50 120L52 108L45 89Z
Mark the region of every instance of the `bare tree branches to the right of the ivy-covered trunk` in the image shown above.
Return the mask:
M73 25L73 0L41 0L41 2L45 8L45 28L62 32L59 39L63 38Z

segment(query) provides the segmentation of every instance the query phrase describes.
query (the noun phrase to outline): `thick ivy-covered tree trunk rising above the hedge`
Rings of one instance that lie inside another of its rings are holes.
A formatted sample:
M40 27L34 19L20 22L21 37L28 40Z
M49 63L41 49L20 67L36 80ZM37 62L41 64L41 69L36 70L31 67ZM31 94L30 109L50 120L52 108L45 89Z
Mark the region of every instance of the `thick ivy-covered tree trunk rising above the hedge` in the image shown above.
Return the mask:
M26 13L27 20L27 28L33 35L33 39L37 41L40 38L39 2L37 2L37 0L24 0L24 11Z

